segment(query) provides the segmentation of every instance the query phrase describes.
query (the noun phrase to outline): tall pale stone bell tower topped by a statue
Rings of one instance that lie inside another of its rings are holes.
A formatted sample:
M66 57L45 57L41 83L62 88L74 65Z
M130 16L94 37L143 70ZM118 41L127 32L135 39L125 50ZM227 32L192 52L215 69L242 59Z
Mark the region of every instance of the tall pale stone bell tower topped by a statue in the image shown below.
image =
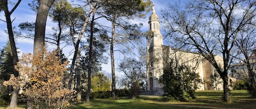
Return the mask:
M147 36L147 91L154 94L162 93L162 85L158 79L163 74L163 36L159 30L159 17L152 6L152 14L148 25L150 34Z

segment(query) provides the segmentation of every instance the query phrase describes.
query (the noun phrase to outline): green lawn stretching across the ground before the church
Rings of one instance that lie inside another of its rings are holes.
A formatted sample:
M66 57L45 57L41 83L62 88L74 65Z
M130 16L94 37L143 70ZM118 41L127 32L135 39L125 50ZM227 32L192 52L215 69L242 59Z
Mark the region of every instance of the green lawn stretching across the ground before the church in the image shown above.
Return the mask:
M70 108L82 109L82 108L116 108L116 109L171 109L171 108L256 108L256 99L250 98L247 91L231 91L230 104L222 102L222 91L198 91L196 99L188 100L187 102L181 101L162 101L158 96L143 96L139 99L128 99L127 97L119 97L117 100L111 99L94 99L90 104L86 104L84 101L76 104ZM25 106L23 106L25 107ZM5 109L1 107L0 109Z

